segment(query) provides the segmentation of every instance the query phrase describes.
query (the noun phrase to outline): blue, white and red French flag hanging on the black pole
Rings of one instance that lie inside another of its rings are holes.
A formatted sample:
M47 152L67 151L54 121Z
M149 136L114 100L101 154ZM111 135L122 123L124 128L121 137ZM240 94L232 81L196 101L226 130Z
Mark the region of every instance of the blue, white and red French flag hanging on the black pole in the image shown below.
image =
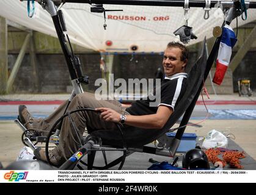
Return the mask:
M227 67L229 66L232 48L236 44L236 35L232 27L225 24L221 37L221 44L219 44L219 53L216 63L216 71L213 77L213 82L221 85L224 79Z

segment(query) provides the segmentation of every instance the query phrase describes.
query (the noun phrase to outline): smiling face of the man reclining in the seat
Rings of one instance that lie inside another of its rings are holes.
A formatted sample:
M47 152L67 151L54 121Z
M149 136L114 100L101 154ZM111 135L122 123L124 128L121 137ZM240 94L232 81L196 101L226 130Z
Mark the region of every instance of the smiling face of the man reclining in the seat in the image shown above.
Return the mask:
M164 51L164 73L166 76L172 76L176 73L185 73L186 62L180 60L180 48L166 48Z

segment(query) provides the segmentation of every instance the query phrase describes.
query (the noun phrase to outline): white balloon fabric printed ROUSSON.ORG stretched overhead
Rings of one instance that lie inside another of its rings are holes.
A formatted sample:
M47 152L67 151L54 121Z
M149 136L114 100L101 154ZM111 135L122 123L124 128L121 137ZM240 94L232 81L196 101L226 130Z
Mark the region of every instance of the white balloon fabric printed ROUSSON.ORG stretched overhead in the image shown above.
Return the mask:
M256 1L256 0L252 0ZM205 1L203 1L205 2ZM57 37L51 16L35 2L35 15L27 16L27 2L1 0L0 15L44 34ZM106 12L106 30L103 28L103 13L91 13L91 5L66 3L62 7L67 34L72 43L101 52L163 52L166 44L179 40L174 31L185 24L183 7L104 5L104 9L123 12ZM204 19L203 8L191 7L188 10L188 26L198 37L194 44L213 37L213 27L221 26L223 13L218 8L210 10L210 18ZM247 19L238 19L238 26L250 23L256 18L256 9L247 10ZM236 21L231 24L236 27ZM107 45L106 41L112 41ZM137 46L133 51L132 46Z

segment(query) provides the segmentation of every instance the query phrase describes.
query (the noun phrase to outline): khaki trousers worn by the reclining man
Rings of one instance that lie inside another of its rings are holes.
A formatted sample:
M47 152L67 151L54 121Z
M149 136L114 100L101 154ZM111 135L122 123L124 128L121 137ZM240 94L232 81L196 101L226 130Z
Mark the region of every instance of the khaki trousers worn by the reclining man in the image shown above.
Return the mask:
M34 129L42 129L46 131L43 135L48 134L48 131L53 127L54 123L60 116L64 115L67 102L60 105L57 110L48 116L48 118L42 119L40 121L35 120L33 123ZM116 112L123 114L125 113L125 108L118 101L98 101L94 98L92 93L82 93L75 96L68 106L67 112L79 108L98 108L98 107L108 107ZM127 113L126 113L127 114ZM114 129L115 125L113 122L107 122L100 118L100 114L96 112L84 111L72 113L71 119L76 125L78 132L75 131L73 124L67 117L64 118L62 122L62 128L60 131L59 145L51 151L51 155L54 155L57 161L63 163L67 158L71 157L76 151L78 151L81 145L81 137L84 130L90 132L91 130L102 130L102 129ZM79 141L80 140L80 141Z

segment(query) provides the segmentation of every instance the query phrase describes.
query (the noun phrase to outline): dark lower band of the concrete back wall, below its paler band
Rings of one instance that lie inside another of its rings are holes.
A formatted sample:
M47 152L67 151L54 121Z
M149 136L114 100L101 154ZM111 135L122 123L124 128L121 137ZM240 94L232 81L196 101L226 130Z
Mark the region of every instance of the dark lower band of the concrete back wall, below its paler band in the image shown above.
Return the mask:
M234 52L235 54L235 52ZM191 52L188 69L196 62L197 52ZM234 73L228 69L225 74L222 85L214 85L217 94L232 94L237 92L237 80L240 78L251 79L251 88L256 90L256 69L254 57L256 52L251 51L246 54L238 68ZM15 63L18 54L9 54L9 68ZM95 79L101 77L100 71L100 54L78 54L81 58L82 69L85 74L90 77L90 84L85 86L86 90L94 91ZM32 78L32 67L29 62L29 55L26 54L18 76L13 85L13 92L15 93L34 93L34 79ZM158 67L162 66L163 57L156 55L115 55L113 73L115 79L123 78L154 78ZM67 65L62 54L37 54L37 66L39 71L39 80L42 93L65 93L67 87L71 85L68 74ZM211 69L211 75L214 76L215 68ZM208 77L205 86L209 93L214 93L213 87Z

